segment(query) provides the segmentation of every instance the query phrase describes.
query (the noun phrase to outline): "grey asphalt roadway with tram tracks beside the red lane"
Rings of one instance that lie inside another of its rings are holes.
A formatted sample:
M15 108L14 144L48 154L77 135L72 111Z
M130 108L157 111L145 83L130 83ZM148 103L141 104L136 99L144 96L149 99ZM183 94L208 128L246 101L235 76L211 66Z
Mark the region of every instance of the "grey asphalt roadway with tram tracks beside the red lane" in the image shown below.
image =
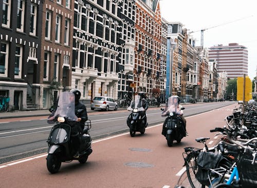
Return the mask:
M228 106L233 101L197 103L185 105L185 117ZM232 108L233 109L233 108ZM231 109L231 110L232 110ZM146 111L149 126L162 123L160 108L149 108ZM88 113L91 120L90 135L93 140L128 131L126 110ZM52 128L45 117L24 117L4 119L0 123L0 164L47 151L46 140Z

